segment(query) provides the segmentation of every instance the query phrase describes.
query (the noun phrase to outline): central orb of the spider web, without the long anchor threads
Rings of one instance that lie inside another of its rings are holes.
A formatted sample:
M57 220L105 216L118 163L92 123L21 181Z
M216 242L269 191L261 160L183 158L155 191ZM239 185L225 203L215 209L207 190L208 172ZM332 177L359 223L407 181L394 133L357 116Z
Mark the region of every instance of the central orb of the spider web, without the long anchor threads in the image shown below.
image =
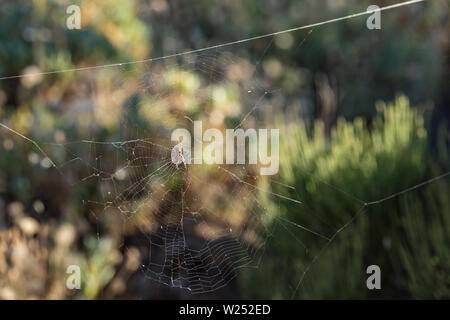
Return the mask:
M271 43L267 41L267 48ZM85 172L80 183L99 189L100 199L82 200L99 223L108 215L118 214L124 217L124 230L127 225L141 225L147 250L142 272L152 280L191 293L215 291L236 277L239 268L257 267L270 236L261 221L264 208L257 201L257 176L251 175L256 174L256 166L177 166L171 158L175 145L169 139L171 130L190 129L193 121L182 110L186 106L177 109L176 89L183 85L178 76L195 74L201 79L191 102L211 105L221 99L219 85L235 86L229 80L229 68L240 64L242 61L229 52L195 54L157 65L145 63L131 85L130 97L140 99L126 102L119 121L119 131L127 139L95 141L89 138L91 133L85 133L86 138L80 141L46 144L53 149L62 147L71 156L58 166L63 177L67 176L64 170L78 165L78 171ZM254 74L258 65L244 67ZM108 79L123 79L125 72L119 68L113 71L118 76L108 74ZM263 90L252 75L247 78L240 88L245 95L240 103L252 106L248 117L269 91ZM114 90L125 84L119 80L112 86ZM156 124L154 130L134 123L136 115L148 109L154 112L152 117L159 118L164 116L158 115L160 108L172 107L172 123ZM232 112L238 115L238 111ZM199 117L211 118L211 114L202 110ZM237 119L239 127L246 117ZM163 135L158 137L161 131ZM207 199L203 192L208 194ZM229 199L239 199L239 205Z

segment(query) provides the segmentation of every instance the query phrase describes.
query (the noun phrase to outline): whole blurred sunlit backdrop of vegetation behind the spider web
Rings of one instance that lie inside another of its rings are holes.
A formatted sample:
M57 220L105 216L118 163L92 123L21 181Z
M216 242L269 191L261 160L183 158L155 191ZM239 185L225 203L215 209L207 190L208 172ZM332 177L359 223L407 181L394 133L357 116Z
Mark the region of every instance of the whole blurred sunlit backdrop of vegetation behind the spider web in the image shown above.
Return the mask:
M395 2L2 1L0 299L450 298L448 1L171 56ZM194 120L279 174L176 168Z

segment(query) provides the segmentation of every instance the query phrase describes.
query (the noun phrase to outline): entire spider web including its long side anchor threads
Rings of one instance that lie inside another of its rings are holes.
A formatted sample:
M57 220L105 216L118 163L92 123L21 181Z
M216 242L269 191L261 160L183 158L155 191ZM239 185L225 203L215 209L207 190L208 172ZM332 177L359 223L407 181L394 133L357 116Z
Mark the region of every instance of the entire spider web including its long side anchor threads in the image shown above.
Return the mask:
M295 47L307 44L312 31L303 31ZM78 133L81 139L63 143L36 141L5 124L1 126L31 142L44 159L55 164L73 188L84 184L92 194L99 195L94 199L85 195L81 199L99 224L116 216L122 221L123 234L139 230L145 235L147 254L141 271L147 277L194 294L222 288L238 275L239 269L258 268L261 264L266 243L272 236L265 221L268 210L260 201L261 193L292 202L293 210L300 216L308 215L308 221L314 222L300 224L272 217L309 261L299 266L300 278L292 288L295 296L310 268L330 243L370 206L445 178L449 173L376 201L358 199L342 188L312 177L317 183L327 185L330 192L353 201L350 218L339 225L330 225L326 214L308 208L301 195L293 199L261 189L257 166L176 166L171 161L174 143L170 141L170 132L175 128L192 129L192 114L196 119L233 118L231 127L235 128L265 128L274 123L272 106L279 101L280 92L261 74L260 68L275 36L255 38L260 45L252 64L239 57L237 47L233 52L238 53L212 48L182 57L141 62L138 75L132 76L128 66L121 64L114 65L114 69L95 70L96 75L106 79L111 96L100 96L93 90L80 94L75 102L91 99L107 106L117 99L125 105L120 110L105 109L110 115L106 123L116 122L116 127L114 135L102 141L91 138L98 133L98 128L91 125ZM195 79L190 78L192 75ZM183 87L186 81L194 83L194 90ZM221 110L222 114L208 107L223 102L226 93L219 87L239 93L239 101L226 102L229 109ZM116 89L124 91L124 96L114 95ZM180 102L183 97L178 95L179 90L194 91L187 104ZM196 106L195 110L191 109L192 105ZM169 115L162 110L169 110ZM95 112L91 109L87 114L95 117ZM70 120L72 116L69 112L63 118ZM136 123L142 122L143 117L157 121ZM216 125L224 128L225 124L226 121ZM271 182L294 188L276 178ZM318 253L310 253L305 245L307 238L317 243Z

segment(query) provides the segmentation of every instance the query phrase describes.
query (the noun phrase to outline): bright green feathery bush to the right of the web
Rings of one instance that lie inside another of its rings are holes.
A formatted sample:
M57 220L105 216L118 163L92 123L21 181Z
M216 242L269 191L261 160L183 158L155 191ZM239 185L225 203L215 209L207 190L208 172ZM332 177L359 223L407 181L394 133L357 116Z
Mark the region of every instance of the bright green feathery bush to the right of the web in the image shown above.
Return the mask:
M274 232L268 262L246 275L252 285L243 287L250 295L450 296L448 180L386 198L437 176L439 170L427 147L424 119L407 98L379 103L377 110L370 125L360 118L339 120L329 138L320 121L311 130L302 123L284 128L280 177L295 189L270 181L261 185L303 203L274 201L261 193ZM447 150L441 151L448 157ZM293 231L299 234L294 240ZM381 268L380 291L365 286L366 267L371 264ZM308 272L296 290L304 271Z

